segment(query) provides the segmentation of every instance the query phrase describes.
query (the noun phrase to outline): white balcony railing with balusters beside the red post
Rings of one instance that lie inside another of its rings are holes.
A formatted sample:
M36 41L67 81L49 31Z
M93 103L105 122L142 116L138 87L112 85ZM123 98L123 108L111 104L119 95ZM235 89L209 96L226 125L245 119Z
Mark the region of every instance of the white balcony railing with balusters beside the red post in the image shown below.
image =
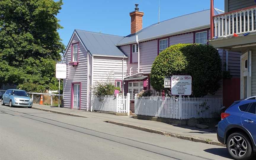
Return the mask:
M213 16L214 37L231 36L234 33L244 34L256 30L256 6Z

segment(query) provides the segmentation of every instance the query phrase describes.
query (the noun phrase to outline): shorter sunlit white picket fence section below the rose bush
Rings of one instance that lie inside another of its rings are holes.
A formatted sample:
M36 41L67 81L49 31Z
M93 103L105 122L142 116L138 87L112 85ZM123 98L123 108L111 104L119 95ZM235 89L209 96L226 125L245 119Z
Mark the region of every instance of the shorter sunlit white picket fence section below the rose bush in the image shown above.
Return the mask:
M127 113L130 115L130 94L127 96L93 96L92 97L92 110L94 111L105 111L105 112L116 112L116 113Z

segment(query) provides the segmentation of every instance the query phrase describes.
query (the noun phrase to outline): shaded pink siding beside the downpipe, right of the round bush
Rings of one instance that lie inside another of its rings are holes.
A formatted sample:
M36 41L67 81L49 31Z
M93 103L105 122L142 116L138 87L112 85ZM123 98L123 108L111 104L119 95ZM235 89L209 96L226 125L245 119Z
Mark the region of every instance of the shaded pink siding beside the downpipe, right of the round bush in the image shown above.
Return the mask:
M222 69L226 70L226 50L219 49L220 58L222 60ZM228 52L228 70L232 77L240 77L240 55L239 52Z

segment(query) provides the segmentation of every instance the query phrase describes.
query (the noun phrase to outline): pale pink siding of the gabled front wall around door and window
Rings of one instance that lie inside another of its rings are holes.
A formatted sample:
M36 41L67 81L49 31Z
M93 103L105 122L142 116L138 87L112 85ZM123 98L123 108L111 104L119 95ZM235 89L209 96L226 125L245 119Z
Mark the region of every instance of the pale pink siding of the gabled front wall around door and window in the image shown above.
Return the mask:
M79 39L74 35L71 43L78 42ZM64 107L71 108L71 83L81 82L81 109L87 109L87 55L85 48L79 42L79 64L76 67L69 65L71 62L71 48L68 46L67 53L65 54L65 63L67 64L67 78L63 81L63 101Z

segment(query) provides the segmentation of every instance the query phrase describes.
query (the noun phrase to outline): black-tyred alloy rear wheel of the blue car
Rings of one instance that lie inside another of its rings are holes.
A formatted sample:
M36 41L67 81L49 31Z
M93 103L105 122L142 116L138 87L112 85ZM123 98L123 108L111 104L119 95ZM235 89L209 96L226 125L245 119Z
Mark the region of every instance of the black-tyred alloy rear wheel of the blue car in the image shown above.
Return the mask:
M253 156L250 139L244 133L233 133L228 136L227 149L236 160L249 160Z

